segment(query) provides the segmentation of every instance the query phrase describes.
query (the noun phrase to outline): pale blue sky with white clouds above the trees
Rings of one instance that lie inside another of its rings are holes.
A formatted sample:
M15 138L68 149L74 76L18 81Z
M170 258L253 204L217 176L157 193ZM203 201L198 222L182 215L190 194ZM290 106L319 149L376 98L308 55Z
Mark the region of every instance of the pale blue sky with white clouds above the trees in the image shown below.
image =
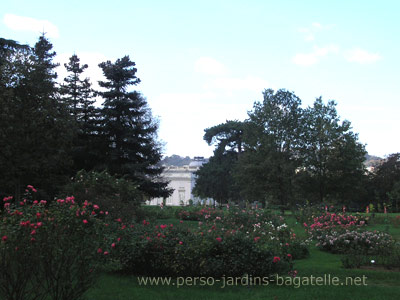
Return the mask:
M0 37L33 46L44 31L61 63L129 55L159 120L163 154L212 155L204 129L244 120L264 89L303 107L335 100L371 155L400 152L400 1L2 0ZM99 103L101 104L101 103Z

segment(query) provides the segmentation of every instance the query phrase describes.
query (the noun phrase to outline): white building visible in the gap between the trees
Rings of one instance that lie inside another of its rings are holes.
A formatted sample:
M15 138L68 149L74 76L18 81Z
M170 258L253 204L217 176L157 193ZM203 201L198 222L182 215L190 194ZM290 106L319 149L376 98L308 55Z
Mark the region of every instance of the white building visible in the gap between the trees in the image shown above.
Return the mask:
M196 175L194 173L200 169L203 163L205 163L203 157L195 157L194 161L189 165L182 167L168 166L165 168L162 177L169 181L168 187L174 190L171 196L165 199L166 205L189 205L190 200L193 201L193 204L198 202L203 204L205 201L207 204L210 204L210 201L214 204L212 199L200 199L192 193L196 183ZM160 205L163 200L163 198L154 198L147 201L147 204Z

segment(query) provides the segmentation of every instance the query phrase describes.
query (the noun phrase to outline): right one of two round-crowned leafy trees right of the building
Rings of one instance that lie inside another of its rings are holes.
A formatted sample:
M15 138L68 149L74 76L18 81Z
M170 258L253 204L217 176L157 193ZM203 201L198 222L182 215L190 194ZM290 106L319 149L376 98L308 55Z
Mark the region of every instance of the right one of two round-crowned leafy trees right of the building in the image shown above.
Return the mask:
M361 192L366 151L350 122L340 122L336 103L325 105L321 97L304 111L304 120L301 170L308 174L308 182L302 182L307 196L318 202L355 200L354 194Z

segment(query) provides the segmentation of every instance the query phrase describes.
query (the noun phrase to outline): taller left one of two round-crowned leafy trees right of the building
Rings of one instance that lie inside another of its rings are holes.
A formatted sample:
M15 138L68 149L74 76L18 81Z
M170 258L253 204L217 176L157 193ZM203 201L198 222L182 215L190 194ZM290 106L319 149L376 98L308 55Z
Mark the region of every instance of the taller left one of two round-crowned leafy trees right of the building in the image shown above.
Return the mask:
M299 165L301 100L293 93L268 89L249 112L245 148L236 169L243 195L251 201L286 206Z

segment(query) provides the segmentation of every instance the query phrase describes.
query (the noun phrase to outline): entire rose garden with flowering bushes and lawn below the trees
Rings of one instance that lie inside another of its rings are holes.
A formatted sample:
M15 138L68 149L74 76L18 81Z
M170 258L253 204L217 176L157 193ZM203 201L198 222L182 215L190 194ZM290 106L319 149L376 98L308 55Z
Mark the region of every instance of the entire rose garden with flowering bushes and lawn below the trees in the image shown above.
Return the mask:
M306 207L282 216L274 210L228 205L143 207L141 218L135 220L121 219L73 196L48 204L35 195L36 189L28 186L20 203L12 197L3 199L0 291L4 299L156 299L165 294L200 299L204 290L210 298L269 299L289 294L301 298L304 293L346 297L349 286L310 282L301 288L247 282L224 287L223 293L221 283L214 281L213 286L174 286L177 278L186 277L279 275L288 280L325 273L366 276L367 285L353 287L355 294L389 299L398 292L400 217L396 214ZM172 282L138 281L159 277Z

